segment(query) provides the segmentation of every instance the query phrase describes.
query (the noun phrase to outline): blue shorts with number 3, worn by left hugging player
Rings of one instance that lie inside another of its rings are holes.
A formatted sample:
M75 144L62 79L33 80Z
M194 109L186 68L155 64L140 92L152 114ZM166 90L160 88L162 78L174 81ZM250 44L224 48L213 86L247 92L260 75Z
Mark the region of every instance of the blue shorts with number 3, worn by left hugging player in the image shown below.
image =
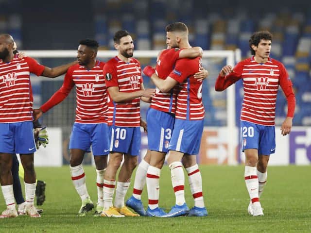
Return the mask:
M149 108L147 112L148 149L167 152L172 137L175 116ZM150 132L150 133L149 133Z

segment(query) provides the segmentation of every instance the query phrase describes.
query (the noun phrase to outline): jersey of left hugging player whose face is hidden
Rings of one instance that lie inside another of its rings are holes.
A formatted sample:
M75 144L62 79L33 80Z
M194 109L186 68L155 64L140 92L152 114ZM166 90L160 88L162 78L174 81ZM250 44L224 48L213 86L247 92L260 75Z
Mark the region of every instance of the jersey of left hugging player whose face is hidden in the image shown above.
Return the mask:
M156 62L155 72L160 79L166 79L172 72L177 59L179 49L163 50ZM155 89L155 96L151 100L150 107L156 110L175 113L176 97L179 85L174 87L169 93L162 93L158 88Z

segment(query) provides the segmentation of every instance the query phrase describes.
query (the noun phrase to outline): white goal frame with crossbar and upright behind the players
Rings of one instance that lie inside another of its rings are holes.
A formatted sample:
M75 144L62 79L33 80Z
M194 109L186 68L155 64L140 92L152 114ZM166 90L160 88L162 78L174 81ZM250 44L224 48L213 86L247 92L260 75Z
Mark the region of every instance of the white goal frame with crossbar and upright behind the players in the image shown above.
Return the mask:
M27 56L33 58L76 58L76 50L24 50L23 51ZM159 50L135 50L134 57L138 58L156 58L159 53ZM99 50L97 53L98 58L105 58L104 61L109 60L110 58L117 55L116 50ZM239 61L241 61L241 50L204 50L203 59L224 59L226 65L232 67ZM205 65L204 65L205 67ZM205 67L209 70L209 67ZM218 70L217 72L219 72ZM216 71L215 71L216 72ZM215 75L214 72L214 75ZM217 77L216 77L217 78ZM207 78L208 79L208 78ZM53 80L54 81L54 80ZM58 79L59 81L59 79ZM236 145L232 137L238 137L239 135L232 135L236 132L236 107L235 107L235 88L234 85L230 86L226 90L226 125L227 127L227 164L236 165L238 152L236 150ZM204 93L203 93L204 95ZM204 98L204 96L203 96ZM209 109L207 109L209 111ZM238 140L239 141L239 140Z

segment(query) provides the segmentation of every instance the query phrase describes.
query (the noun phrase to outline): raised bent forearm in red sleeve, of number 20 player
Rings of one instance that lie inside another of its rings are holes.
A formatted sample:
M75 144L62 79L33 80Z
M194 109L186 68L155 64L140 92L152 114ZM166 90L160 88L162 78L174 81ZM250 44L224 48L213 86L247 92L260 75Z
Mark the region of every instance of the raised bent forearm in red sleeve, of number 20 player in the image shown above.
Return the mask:
M241 79L241 74L235 72L231 66L225 66L221 69L218 78L215 83L216 91L223 91L231 86L233 83L236 83L239 79Z

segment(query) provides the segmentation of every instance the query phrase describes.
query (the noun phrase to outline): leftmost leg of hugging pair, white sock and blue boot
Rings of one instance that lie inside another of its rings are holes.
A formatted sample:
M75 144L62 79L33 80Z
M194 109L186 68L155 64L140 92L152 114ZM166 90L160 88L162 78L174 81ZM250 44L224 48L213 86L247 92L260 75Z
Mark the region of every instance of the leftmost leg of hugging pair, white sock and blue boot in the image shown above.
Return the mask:
M150 163L151 151L147 150L145 157L139 163L134 180L133 195L126 200L126 206L135 210L140 216L145 216L146 212L141 202L142 189L146 184L146 175Z

